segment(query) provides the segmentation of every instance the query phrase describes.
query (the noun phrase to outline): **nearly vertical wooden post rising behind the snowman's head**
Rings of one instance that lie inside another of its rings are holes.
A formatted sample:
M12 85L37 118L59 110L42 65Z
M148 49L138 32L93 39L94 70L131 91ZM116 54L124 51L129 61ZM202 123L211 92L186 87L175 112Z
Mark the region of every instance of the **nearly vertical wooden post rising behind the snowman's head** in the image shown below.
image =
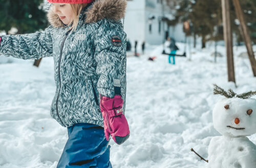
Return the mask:
M222 3L222 19L224 27L224 40L226 44L226 54L227 54L227 71L228 71L228 81L233 81L236 83L234 76L234 60L233 60L233 42L232 42L232 32L230 24L230 7L229 0L221 0Z

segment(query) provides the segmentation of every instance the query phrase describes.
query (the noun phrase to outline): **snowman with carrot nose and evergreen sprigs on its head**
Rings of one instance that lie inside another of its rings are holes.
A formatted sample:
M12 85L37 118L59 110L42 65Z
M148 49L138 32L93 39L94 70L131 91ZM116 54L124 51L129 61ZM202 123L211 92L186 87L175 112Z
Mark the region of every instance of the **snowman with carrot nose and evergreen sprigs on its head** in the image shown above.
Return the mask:
M256 92L237 95L215 85L221 99L212 111L214 128L222 134L211 139L208 168L255 168L256 145L246 136L256 133Z

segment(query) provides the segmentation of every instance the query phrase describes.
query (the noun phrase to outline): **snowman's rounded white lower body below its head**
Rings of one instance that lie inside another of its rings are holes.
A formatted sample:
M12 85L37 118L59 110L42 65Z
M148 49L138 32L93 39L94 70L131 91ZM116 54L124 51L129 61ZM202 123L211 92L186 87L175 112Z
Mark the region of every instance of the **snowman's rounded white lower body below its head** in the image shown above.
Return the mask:
M209 168L256 167L256 146L247 137L216 136L208 148Z

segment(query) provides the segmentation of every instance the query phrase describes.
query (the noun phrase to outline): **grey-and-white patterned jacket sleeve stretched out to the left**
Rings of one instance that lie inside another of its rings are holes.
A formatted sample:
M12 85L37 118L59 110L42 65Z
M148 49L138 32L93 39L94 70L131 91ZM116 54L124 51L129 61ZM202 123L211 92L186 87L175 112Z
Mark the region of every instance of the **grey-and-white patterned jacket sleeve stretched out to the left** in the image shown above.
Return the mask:
M51 26L44 32L25 35L5 35L0 42L0 55L18 59L52 57Z

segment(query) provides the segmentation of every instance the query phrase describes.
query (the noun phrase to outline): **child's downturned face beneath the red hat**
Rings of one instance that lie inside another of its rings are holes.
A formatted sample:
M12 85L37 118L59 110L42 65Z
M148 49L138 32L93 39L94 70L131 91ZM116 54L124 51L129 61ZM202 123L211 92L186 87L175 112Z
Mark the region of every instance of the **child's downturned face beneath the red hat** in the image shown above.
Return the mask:
M54 3L54 13L59 16L59 19L64 23L64 24L69 24L73 21L74 19L74 13L72 11L72 8L70 4L59 4L59 3Z

